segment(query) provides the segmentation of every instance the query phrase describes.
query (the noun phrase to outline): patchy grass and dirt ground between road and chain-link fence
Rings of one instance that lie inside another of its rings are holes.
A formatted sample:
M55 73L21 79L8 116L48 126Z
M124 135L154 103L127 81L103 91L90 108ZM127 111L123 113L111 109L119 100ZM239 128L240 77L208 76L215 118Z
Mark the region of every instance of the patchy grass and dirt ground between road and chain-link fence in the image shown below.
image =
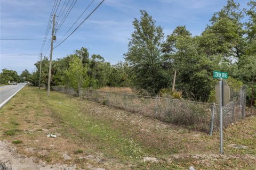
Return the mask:
M210 137L58 92L47 98L45 90L33 87L23 88L0 117L0 139L38 163L84 169L256 169L255 116L226 129L222 155L218 133ZM145 157L151 161L144 162Z

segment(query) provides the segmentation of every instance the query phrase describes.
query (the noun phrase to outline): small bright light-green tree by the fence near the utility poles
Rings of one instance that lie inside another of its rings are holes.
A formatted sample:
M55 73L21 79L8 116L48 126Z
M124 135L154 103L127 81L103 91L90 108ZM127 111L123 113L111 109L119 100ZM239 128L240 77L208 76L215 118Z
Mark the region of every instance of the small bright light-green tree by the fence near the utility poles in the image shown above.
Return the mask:
M81 88L89 84L86 72L87 67L82 64L80 58L74 56L69 62L69 69L66 73L70 86L78 90L78 95L81 95Z

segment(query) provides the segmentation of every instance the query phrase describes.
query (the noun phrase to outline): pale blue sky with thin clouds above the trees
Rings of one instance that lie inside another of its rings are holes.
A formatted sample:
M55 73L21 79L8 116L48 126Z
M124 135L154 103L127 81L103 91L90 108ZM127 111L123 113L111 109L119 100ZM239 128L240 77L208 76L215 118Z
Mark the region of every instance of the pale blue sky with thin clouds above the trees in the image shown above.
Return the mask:
M70 4L71 2L72 0ZM91 2L76 1L56 34L57 42ZM100 2L101 0L94 0L75 26ZM235 2L246 7L249 0ZM61 0L58 10L63 3L65 0ZM1 39L44 38L53 4L54 0L1 0ZM193 35L200 35L206 24L209 24L213 13L218 12L224 5L226 0L106 0L73 35L54 49L53 60L73 54L75 49L86 47L90 55L100 54L105 61L115 64L124 60L123 54L127 52L133 32L132 21L140 18L139 10L146 10L152 15L156 24L163 27L165 36L170 35L178 25L186 25ZM51 31L49 36L50 33ZM19 74L25 69L34 71L34 63L39 60L42 42L42 39L1 40L0 69L16 70ZM45 49L45 53L50 54L50 51Z

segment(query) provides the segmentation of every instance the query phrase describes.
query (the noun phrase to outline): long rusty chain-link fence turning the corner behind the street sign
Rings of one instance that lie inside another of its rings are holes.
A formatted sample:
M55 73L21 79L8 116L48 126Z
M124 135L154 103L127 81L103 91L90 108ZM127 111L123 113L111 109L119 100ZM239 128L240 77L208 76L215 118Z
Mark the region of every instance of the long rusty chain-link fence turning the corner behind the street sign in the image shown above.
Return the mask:
M54 91L78 96L78 92L73 88L52 88ZM91 89L81 89L80 97L194 130L212 133L213 129L219 129L219 107L217 104ZM244 87L238 94L231 94L231 101L223 107L223 126L226 127L245 116L245 99Z

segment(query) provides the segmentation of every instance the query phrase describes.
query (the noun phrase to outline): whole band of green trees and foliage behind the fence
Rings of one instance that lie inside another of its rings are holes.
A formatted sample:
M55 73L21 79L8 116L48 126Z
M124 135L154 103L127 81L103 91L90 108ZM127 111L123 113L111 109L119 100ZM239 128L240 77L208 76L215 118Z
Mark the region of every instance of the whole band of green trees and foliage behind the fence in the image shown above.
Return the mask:
M162 27L142 10L140 19L132 22L134 32L124 54L124 63L111 65L101 55L90 56L88 49L82 47L75 50L75 54L52 61L51 84L77 90L82 87L133 87L144 95L159 92L171 98L181 98L182 91L186 99L192 96L197 101L214 101L212 74L215 70L229 73L232 78L227 80L228 84L236 92L241 82L252 90L252 81L256 79L256 2L250 1L247 5L247 9L242 10L234 0L228 0L213 14L201 35L192 36L185 25L180 25L166 39ZM35 65L39 70L39 62ZM47 84L48 70L49 61L44 57L43 84ZM177 71L177 94L161 91L172 87L174 70ZM37 85L39 71L29 75L25 70L20 77ZM13 79L1 73L1 82ZM247 98L250 94L252 91Z

